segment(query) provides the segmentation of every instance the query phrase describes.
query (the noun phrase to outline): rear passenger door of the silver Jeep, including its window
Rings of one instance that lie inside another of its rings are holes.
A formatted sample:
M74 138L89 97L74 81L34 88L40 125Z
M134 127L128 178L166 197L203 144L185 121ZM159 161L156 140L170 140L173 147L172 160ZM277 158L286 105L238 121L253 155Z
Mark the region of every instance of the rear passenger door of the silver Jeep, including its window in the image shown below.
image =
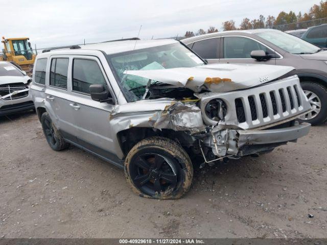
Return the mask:
M69 81L72 78L68 70L71 69L72 58L51 56L49 63L45 89L47 111L62 135L66 139L76 141L76 122L69 108L69 104L72 103Z

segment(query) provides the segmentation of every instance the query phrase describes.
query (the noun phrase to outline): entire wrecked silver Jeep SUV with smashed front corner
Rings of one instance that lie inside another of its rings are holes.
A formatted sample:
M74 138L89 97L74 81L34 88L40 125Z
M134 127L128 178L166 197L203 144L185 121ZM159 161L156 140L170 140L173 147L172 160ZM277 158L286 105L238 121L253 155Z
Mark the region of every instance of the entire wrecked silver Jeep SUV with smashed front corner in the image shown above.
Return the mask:
M285 76L293 69L207 65L178 41L134 38L43 51L31 93L53 150L76 145L124 168L141 197L177 199L193 164L308 134L296 118L312 109L298 77Z

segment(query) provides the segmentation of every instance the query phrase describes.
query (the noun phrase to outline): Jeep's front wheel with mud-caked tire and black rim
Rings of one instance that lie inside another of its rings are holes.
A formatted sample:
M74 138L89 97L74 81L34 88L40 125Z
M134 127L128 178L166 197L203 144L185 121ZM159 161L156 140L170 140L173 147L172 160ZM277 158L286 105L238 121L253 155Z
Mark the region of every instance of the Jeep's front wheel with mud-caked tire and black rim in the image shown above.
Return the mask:
M125 160L127 182L140 197L179 199L189 191L193 165L175 141L151 137L139 141Z

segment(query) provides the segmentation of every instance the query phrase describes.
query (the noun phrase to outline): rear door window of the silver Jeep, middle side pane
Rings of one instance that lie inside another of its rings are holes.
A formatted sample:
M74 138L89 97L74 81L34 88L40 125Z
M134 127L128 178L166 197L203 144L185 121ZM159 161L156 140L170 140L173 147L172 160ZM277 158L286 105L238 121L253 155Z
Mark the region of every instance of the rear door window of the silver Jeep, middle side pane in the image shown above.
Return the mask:
M51 60L50 85L67 89L68 58Z

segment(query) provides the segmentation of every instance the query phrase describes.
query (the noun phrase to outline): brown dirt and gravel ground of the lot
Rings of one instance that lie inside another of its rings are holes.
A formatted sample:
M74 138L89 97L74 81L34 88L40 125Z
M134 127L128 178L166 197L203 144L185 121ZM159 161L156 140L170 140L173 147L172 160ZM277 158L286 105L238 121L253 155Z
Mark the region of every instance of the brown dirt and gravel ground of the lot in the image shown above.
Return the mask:
M52 151L35 114L0 118L0 236L327 237L326 136L198 169L183 199L157 201L91 154Z

